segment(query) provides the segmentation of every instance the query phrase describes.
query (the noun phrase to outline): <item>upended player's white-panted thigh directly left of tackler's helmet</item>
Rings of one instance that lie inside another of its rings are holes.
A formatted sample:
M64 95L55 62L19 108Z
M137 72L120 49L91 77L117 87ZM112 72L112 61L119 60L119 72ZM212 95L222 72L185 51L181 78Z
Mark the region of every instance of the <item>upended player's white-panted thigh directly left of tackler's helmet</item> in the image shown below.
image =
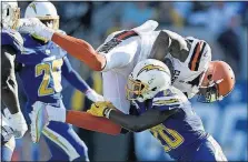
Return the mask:
M130 102L126 99L127 78L115 71L102 72L103 97L123 113L129 113Z

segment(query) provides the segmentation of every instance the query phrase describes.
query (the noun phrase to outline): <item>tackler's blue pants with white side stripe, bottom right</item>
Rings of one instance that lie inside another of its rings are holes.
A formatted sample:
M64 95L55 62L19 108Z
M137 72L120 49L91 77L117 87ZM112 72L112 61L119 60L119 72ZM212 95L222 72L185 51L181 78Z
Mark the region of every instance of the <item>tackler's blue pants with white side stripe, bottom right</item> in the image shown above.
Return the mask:
M192 161L227 161L220 145L210 135L195 152Z

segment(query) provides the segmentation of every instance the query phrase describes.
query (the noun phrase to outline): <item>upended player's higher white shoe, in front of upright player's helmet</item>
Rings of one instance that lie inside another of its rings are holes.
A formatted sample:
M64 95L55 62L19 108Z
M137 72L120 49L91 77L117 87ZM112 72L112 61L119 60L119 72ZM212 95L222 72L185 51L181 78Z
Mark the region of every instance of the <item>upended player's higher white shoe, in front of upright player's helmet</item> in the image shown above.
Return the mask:
M53 29L48 28L38 18L20 19L17 30L21 33L36 34L46 40L51 40L54 33Z

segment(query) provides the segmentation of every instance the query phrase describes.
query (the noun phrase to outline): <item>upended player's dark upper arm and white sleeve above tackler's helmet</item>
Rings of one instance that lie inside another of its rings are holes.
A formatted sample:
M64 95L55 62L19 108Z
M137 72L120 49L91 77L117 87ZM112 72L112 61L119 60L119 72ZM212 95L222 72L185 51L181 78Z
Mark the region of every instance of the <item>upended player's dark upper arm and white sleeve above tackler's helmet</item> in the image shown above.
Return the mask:
M188 43L176 32L161 30L156 39L152 50L155 50L153 59L163 61L167 53L185 62L188 54Z

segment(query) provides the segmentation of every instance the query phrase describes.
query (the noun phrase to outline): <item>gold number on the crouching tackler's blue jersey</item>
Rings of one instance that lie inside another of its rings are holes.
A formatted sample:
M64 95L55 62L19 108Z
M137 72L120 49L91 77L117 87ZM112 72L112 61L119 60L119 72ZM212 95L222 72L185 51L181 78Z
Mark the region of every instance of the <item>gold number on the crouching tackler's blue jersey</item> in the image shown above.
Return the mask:
M166 152L178 148L185 141L177 131L167 129L163 124L151 128L150 132L165 146Z

